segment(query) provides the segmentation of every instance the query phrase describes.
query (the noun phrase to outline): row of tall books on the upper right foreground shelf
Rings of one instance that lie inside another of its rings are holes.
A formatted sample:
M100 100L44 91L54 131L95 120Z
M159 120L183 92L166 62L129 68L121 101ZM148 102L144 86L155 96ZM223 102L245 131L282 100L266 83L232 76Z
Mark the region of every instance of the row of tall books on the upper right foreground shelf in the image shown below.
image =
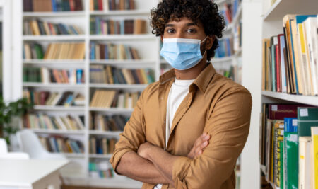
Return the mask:
M318 95L317 28L317 15L286 15L283 33L263 40L263 90Z

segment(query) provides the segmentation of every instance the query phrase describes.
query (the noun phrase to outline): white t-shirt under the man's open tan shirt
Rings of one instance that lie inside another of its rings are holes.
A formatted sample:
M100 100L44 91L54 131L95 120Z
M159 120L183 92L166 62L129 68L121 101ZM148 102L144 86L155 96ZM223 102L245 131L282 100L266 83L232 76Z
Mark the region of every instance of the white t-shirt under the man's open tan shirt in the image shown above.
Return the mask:
M189 93L189 86L193 83L194 79L190 80L179 80L175 79L175 82L172 84L169 96L167 98L167 114L165 120L165 146L167 146L168 139L170 137L170 130L172 126L173 118L175 113L179 108L179 105L182 103L183 99ZM153 189L161 189L163 185L155 185Z

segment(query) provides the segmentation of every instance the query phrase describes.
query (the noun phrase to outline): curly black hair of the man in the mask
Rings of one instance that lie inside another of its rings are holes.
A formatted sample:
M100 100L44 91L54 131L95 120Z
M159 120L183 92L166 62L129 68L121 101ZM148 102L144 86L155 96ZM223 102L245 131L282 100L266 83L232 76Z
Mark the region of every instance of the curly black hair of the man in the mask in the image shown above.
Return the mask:
M216 36L211 49L207 50L207 59L210 61L225 28L224 17L218 13L218 5L211 0L163 0L157 8L151 9L152 33L156 36L163 35L166 23L182 17L194 23L201 22L206 35Z

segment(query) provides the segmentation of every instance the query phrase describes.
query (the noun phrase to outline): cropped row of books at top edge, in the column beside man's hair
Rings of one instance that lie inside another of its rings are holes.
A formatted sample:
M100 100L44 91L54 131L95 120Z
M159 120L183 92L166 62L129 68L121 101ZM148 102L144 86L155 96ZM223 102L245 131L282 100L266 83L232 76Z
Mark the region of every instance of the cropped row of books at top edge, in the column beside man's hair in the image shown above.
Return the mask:
M134 10L134 0L90 0L90 11Z

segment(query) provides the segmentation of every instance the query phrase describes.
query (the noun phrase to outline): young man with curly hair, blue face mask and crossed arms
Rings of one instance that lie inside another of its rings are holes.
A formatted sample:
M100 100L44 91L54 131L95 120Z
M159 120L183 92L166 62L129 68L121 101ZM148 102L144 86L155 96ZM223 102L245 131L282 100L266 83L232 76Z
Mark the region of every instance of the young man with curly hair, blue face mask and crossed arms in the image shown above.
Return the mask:
M173 67L149 85L110 159L143 188L235 188L235 164L249 132L249 91L211 63L225 28L209 0L163 0L153 33Z

